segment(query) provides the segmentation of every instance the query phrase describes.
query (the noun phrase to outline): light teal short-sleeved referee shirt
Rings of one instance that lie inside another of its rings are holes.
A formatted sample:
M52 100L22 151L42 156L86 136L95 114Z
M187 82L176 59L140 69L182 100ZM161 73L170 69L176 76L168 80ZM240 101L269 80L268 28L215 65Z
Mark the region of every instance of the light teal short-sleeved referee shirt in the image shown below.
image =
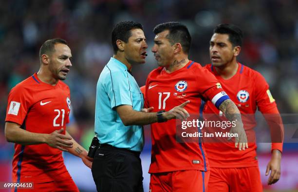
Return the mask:
M140 111L144 99L126 65L111 58L96 86L95 134L100 144L141 152L144 147L143 126L125 126L115 109L120 105L131 105Z

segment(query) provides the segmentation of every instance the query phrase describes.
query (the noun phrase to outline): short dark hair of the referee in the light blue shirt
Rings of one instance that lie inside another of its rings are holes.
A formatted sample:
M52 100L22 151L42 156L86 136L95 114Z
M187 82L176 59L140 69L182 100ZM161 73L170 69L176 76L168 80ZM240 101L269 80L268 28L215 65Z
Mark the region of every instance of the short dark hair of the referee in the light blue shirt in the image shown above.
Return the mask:
M123 40L124 42L128 42L128 39L131 36L130 30L132 29L142 29L143 26L140 23L134 22L134 21L121 21L116 24L112 31L112 46L114 54L118 51L118 46L116 41L118 39Z

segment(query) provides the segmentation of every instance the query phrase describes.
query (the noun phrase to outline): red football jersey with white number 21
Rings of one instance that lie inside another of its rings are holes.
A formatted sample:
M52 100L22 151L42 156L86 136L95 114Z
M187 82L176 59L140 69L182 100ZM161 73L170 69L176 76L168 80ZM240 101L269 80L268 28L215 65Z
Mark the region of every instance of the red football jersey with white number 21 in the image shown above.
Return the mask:
M55 86L40 81L37 74L16 85L8 96L5 121L15 122L33 133L50 134L69 121L70 90L62 81ZM15 144L14 182L47 182L67 172L62 152L47 144Z

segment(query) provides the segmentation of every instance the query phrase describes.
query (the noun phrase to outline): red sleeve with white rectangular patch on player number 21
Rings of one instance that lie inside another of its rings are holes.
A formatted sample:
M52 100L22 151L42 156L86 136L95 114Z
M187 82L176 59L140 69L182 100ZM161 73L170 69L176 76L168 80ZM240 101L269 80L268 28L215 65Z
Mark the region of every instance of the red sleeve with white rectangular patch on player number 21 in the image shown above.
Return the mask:
M31 94L21 86L14 87L8 95L5 121L23 124L29 108L31 107Z

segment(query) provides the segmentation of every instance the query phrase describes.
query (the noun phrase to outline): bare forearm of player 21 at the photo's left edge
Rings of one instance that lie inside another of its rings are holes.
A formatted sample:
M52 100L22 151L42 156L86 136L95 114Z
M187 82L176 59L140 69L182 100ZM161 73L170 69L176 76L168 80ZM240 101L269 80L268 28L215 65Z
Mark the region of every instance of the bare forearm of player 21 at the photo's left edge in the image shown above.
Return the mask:
M36 145L46 141L46 134L38 134L26 131L20 128L20 125L14 122L5 123L5 137L8 142L21 145Z

